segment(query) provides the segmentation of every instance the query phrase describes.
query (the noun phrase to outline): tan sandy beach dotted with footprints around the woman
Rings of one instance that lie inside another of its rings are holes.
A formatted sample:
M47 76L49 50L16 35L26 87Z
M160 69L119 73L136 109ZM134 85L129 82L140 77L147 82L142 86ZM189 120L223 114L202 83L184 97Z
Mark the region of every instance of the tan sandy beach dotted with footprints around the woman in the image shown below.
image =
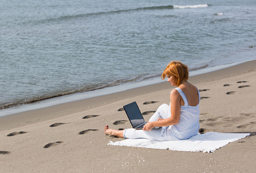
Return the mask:
M251 133L214 153L110 146L103 127L131 128L124 104L148 120L168 82L0 118L0 172L254 172L256 61L190 77L201 90L201 132ZM144 103L144 104L143 104Z

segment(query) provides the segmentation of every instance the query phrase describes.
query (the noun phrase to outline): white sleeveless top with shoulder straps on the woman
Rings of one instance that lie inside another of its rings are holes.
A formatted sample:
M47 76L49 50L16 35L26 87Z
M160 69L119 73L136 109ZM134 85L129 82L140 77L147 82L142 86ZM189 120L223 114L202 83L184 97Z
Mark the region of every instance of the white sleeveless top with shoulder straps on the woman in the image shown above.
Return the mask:
M175 88L182 99L184 100L184 106L180 106L180 121L176 125L169 126L168 130L172 131L175 137L180 140L186 140L192 136L198 134L199 130L199 103L197 106L189 106L187 96L180 88ZM200 93L199 102L200 102ZM171 103L170 103L171 104Z

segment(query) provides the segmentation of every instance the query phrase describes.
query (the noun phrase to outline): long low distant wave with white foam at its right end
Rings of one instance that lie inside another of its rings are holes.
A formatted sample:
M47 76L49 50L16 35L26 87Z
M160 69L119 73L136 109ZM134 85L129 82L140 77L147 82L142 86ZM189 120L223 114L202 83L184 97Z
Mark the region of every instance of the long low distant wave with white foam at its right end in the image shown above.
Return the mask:
M65 21L65 20L72 20L76 18L83 18L83 17L90 17L90 16L101 16L107 14L117 14L117 13L125 13L125 12L136 12L136 11L143 11L143 10L166 10L166 9L187 9L187 8L200 8L200 7L208 7L207 4L202 5L188 5L188 6L179 6L179 5L166 5L166 6L151 6L151 7L139 7L136 9L126 9L126 10L114 10L110 12L98 12L98 13L87 13L87 14L77 14L72 16L61 16L58 18L49 18L46 20L38 21L38 24L42 24L45 22L55 22L55 21Z

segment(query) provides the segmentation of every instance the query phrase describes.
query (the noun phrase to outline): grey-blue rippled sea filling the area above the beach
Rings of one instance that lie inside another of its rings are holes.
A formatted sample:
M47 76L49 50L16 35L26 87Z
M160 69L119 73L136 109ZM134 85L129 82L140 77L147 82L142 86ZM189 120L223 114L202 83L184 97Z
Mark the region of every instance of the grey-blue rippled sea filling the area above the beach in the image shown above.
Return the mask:
M161 82L172 60L256 59L255 0L2 0L0 16L0 116Z

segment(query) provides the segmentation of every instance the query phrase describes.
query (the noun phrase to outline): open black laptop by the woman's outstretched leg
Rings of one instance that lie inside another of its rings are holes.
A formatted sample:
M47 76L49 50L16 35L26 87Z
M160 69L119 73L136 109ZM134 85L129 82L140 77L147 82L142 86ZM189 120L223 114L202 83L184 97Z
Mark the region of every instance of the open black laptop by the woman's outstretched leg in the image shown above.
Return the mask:
M147 122L144 121L136 101L125 105L124 110L129 118L129 121L131 122L133 129L143 129L143 126L146 125ZM158 128L159 127L154 127L153 129Z

